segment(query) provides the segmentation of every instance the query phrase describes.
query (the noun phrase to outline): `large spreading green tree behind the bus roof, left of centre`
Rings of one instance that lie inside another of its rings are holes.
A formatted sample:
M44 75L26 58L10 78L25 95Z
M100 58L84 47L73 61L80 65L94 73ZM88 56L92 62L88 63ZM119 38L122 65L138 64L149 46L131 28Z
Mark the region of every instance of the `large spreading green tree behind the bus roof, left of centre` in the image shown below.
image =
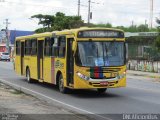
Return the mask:
M37 14L31 16L31 18L39 19L38 24L43 26L43 28L35 30L37 33L79 28L84 25L84 21L80 16L66 16L61 12L57 12L55 15Z

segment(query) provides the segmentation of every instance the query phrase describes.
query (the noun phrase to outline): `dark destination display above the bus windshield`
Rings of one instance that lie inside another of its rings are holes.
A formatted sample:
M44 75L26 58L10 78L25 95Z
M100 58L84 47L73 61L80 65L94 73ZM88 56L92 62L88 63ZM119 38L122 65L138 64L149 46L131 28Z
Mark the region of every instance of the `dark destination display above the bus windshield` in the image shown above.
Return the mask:
M87 30L78 32L78 38L123 38L124 33L113 30Z

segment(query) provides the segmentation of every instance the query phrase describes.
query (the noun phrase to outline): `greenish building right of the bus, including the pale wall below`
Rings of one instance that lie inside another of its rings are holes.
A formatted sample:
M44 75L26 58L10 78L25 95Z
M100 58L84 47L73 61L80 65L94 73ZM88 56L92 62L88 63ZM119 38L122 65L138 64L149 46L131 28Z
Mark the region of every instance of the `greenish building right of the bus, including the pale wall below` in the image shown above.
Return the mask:
M128 69L160 73L160 53L154 47L158 35L158 32L125 33Z

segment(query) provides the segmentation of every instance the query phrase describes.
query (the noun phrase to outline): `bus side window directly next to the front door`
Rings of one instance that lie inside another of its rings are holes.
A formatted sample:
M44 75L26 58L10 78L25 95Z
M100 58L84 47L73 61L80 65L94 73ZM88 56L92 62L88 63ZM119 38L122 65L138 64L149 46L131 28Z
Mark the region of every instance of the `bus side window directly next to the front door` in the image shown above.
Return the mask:
M65 53L66 53L66 37L65 36L60 36L58 38L58 48L59 48L58 57L65 57Z

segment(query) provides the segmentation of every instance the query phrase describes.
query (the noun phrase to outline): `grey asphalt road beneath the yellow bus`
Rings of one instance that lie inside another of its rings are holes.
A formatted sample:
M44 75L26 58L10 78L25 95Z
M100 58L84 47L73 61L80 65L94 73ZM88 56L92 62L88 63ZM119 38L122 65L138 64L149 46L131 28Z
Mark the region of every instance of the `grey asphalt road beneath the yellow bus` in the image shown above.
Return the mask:
M101 114L103 117L105 114L160 113L160 83L149 78L128 76L126 88L108 89L102 95L94 90L62 94L53 85L27 83L24 77L15 74L11 62L0 62L0 81L79 113Z

